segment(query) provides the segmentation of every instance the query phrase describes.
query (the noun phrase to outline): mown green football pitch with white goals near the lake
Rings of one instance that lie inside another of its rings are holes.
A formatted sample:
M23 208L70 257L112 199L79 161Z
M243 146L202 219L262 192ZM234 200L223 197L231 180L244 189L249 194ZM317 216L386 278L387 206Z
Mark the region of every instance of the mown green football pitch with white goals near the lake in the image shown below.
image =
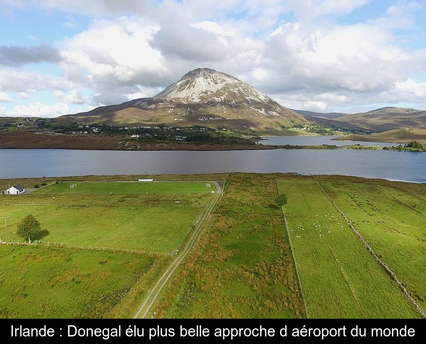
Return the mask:
M34 194L188 194L216 192L214 183L207 182L65 182L48 185L33 191ZM77 185L70 189L70 185Z

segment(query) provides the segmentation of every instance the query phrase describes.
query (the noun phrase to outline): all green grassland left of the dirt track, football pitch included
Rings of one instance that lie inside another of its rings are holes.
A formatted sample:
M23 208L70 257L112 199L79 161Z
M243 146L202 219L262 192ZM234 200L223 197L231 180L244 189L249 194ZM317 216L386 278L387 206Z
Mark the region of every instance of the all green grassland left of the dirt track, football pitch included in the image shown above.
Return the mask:
M42 229L37 245L0 245L0 317L110 317L131 288L138 297L147 292L168 259L152 253L179 248L216 192L213 183L189 181L69 184L0 196L9 242L24 241L16 230L29 213ZM5 241L5 223L0 233Z

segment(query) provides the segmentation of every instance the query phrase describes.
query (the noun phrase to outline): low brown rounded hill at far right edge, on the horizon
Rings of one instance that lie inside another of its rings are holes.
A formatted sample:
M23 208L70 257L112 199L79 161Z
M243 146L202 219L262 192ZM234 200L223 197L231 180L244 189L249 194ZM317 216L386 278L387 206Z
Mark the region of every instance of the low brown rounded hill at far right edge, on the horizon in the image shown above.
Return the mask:
M426 128L426 111L384 107L368 112L345 115L334 120L345 126L359 126L370 132L383 132L403 127Z

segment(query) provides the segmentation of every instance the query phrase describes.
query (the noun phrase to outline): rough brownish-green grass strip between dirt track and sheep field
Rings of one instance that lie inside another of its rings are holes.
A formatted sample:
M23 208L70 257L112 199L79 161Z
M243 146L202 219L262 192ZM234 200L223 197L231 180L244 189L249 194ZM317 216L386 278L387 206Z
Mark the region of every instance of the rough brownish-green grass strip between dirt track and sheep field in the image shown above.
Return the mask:
M212 221L156 317L306 317L276 195L273 175L229 175Z

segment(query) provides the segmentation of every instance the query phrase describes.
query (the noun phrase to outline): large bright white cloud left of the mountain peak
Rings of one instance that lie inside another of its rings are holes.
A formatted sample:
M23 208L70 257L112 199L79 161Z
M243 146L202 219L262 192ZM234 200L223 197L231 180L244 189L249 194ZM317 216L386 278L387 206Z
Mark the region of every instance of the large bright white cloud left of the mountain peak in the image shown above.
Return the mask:
M98 94L99 104L124 101L138 85L156 87L168 73L160 52L149 44L158 29L140 18L96 20L88 30L58 43L61 67L70 80Z

